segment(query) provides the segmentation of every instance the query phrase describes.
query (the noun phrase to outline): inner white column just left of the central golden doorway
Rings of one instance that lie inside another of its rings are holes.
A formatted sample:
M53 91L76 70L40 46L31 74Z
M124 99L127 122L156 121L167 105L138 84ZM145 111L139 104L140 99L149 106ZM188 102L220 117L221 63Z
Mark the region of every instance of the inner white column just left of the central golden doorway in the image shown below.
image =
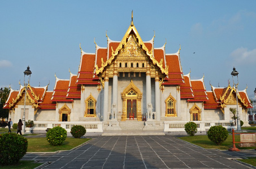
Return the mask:
M113 103L112 103L112 119L117 119L118 115L118 65L117 61L114 62L113 71Z

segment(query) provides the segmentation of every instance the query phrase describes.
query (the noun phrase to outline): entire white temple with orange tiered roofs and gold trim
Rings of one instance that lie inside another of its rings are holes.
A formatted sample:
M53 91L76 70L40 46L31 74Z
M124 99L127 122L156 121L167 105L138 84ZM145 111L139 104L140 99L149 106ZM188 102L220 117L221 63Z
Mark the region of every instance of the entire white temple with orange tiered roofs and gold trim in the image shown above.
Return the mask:
M70 79L56 77L53 91L46 87L27 90L20 85L12 90L4 108L18 122L36 123L34 130L72 125L85 126L88 132L155 130L163 133L183 132L189 121L198 131L211 126L231 127L236 108L235 87L214 87L206 91L203 77L190 79L183 73L180 49L166 54L165 44L154 47L154 37L142 41L131 21L122 41L112 41L106 34L107 47L96 44L95 53L81 47L79 70ZM25 99L25 92L27 98ZM24 111L24 101L25 111ZM238 112L248 124L251 108L246 89L238 91Z

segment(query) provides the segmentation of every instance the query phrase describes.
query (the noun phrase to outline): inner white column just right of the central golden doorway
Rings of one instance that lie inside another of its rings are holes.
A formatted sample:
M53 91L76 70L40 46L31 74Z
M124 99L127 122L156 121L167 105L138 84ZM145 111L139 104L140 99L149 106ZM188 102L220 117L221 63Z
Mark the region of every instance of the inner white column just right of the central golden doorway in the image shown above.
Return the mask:
M146 108L147 108L147 119L152 119L152 104L151 104L151 77L150 77L150 65L149 62L146 64ZM151 109L149 110L149 104L151 105Z

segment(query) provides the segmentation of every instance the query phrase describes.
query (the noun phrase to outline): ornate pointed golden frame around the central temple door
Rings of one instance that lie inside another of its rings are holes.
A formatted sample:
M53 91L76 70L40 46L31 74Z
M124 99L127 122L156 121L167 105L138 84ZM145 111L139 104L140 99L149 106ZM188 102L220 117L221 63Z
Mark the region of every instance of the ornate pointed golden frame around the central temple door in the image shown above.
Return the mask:
M133 90L136 95L128 95L128 93ZM133 81L124 89L121 94L123 100L123 112L122 112L122 119L121 121L126 121L127 119L127 99L136 99L137 100L137 121L142 121L142 114L141 114L141 99L142 99L142 92L138 87L135 86Z

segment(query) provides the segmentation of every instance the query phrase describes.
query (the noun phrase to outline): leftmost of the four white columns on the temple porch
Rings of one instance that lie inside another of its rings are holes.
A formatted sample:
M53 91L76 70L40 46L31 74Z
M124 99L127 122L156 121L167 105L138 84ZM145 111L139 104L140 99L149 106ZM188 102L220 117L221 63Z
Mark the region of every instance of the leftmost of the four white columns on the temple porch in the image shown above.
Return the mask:
M104 102L103 102L103 121L108 120L109 112L109 70L105 71L104 77Z

